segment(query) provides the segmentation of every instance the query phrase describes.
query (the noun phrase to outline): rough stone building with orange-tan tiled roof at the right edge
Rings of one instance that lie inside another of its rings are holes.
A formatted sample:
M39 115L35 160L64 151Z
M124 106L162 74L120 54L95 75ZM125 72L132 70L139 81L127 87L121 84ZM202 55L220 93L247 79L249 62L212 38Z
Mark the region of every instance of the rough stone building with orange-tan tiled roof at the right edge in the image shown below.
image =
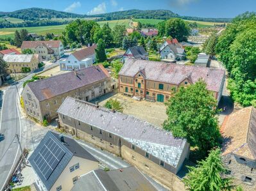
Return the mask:
M221 134L226 176L243 190L256 190L256 109L246 107L226 116Z

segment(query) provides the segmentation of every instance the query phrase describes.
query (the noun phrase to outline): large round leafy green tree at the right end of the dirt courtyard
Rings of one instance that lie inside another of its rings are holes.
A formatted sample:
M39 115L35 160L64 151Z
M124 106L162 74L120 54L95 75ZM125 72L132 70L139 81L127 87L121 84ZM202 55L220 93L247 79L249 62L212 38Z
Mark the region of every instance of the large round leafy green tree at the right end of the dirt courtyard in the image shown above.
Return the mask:
M184 137L197 146L201 155L219 145L217 103L206 89L206 83L199 80L186 88L181 87L167 102L167 116L164 129L175 137Z

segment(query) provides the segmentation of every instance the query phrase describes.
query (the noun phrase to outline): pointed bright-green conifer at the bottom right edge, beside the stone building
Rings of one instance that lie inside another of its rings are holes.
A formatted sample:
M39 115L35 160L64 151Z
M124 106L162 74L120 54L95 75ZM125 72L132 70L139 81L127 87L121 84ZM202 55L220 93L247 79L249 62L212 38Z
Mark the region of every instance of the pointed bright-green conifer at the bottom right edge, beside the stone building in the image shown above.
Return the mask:
M189 167L184 178L185 187L191 191L232 190L232 179L225 177L226 169L221 160L221 150L212 149L209 157L198 162L196 167Z

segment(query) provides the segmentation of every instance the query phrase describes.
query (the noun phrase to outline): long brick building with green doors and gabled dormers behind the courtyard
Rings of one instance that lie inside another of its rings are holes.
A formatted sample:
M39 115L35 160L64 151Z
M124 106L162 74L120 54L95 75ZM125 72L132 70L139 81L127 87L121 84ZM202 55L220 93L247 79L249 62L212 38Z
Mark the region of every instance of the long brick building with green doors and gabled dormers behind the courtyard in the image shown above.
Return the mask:
M219 102L225 82L225 70L200 66L126 59L119 72L119 92L148 101L166 102L181 86L204 80Z

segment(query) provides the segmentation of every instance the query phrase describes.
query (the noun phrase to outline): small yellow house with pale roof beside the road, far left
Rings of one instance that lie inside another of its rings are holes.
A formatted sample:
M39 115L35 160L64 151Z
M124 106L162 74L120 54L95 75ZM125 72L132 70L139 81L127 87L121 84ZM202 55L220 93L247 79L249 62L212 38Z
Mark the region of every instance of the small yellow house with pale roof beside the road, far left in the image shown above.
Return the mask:
M5 54L3 59L8 64L10 73L32 72L38 69L37 54Z

